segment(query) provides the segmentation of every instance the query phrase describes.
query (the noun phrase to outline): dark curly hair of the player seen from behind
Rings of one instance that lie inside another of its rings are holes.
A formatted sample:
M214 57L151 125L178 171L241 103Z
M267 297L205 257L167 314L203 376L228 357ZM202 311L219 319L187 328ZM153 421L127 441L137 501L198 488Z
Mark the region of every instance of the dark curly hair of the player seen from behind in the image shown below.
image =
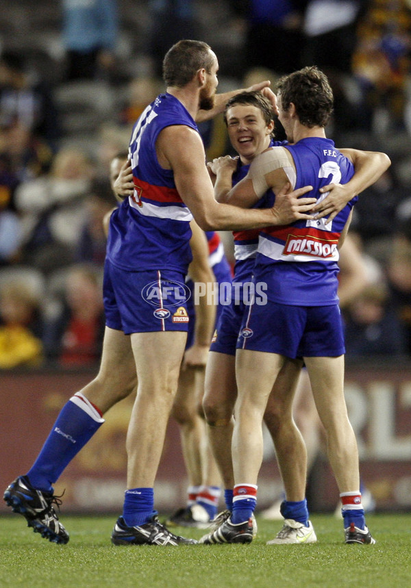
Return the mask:
M325 127L332 114L334 98L327 76L316 66L308 66L284 75L277 83L283 110L290 103L302 125L308 128Z

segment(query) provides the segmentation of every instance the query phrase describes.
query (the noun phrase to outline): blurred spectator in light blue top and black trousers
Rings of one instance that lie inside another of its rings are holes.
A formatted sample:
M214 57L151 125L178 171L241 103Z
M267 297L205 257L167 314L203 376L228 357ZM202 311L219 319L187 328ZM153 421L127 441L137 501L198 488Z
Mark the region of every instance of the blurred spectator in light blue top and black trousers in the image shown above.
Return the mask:
M116 0L62 0L66 79L108 79L115 75L119 34Z

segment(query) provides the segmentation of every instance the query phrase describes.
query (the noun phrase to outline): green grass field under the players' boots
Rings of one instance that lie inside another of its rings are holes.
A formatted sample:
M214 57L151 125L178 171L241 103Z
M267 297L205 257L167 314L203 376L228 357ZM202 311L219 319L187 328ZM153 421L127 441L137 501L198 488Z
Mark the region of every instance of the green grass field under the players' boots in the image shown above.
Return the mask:
M281 523L258 517L251 545L179 548L112 546L112 516L62 520L71 535L66 546L34 534L21 515L1 517L0 587L411 587L410 514L369 515L374 546L343 544L342 522L332 515L312 516L319 541L306 546L266 546Z

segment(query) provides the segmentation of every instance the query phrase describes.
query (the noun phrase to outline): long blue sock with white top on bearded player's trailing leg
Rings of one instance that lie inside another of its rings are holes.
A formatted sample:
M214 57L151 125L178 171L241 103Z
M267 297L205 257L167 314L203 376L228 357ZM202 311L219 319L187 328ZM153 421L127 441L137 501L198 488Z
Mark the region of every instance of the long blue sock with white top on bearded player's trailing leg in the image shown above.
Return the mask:
M103 422L104 419L82 394L70 398L26 474L29 483L38 490L53 491L53 483Z

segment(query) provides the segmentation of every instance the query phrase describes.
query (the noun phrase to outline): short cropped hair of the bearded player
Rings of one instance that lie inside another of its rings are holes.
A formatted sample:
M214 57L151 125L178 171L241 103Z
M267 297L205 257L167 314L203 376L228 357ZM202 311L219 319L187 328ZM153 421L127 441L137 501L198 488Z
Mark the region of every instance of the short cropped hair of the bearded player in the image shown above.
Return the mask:
M166 85L183 88L201 68L211 73L214 56L210 51L210 45L203 41L183 39L175 43L167 51L163 61L163 79Z

